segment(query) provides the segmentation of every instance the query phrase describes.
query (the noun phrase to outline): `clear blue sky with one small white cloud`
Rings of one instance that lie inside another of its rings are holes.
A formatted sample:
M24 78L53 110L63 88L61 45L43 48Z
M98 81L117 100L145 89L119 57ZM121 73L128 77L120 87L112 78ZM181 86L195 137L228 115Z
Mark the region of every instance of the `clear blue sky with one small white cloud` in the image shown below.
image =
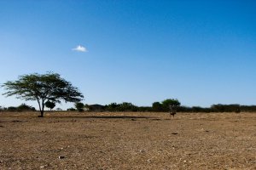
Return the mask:
M86 104L256 105L253 0L0 0L0 23L0 83L54 71Z

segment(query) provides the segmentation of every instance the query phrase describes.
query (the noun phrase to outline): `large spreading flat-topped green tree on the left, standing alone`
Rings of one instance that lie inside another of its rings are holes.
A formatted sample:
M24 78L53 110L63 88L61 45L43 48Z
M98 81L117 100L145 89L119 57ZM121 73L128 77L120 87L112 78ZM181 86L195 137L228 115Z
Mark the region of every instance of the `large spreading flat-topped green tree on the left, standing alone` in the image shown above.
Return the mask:
M7 97L15 95L17 99L38 101L41 117L44 116L46 101L54 103L61 103L61 100L79 102L84 98L79 89L73 87L71 82L67 82L59 74L52 72L20 76L16 81L3 83L2 87L7 91L3 94Z

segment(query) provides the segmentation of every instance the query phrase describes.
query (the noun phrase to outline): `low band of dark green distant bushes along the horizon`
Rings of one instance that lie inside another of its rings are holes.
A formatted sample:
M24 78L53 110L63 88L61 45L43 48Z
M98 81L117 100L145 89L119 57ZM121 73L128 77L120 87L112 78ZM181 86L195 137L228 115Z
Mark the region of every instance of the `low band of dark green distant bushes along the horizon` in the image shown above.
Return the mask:
M84 105L84 104L83 104ZM78 106L78 105L77 105ZM19 106L3 107L0 106L0 111L36 111L32 106L21 104ZM55 111L61 111L60 108L55 109ZM128 102L123 102L120 104L111 103L109 105L84 105L84 107L69 108L67 111L136 111L136 112L168 112L165 106L160 102L154 102L152 106L137 106ZM256 112L256 105L212 105L211 107L200 107L200 106L177 106L177 112Z

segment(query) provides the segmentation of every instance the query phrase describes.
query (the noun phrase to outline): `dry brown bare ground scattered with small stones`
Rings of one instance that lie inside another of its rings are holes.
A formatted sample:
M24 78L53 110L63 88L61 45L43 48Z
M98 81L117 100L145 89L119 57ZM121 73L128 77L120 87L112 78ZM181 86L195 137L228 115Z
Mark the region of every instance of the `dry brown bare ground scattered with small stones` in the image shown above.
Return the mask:
M256 113L37 116L0 113L0 169L256 169Z

